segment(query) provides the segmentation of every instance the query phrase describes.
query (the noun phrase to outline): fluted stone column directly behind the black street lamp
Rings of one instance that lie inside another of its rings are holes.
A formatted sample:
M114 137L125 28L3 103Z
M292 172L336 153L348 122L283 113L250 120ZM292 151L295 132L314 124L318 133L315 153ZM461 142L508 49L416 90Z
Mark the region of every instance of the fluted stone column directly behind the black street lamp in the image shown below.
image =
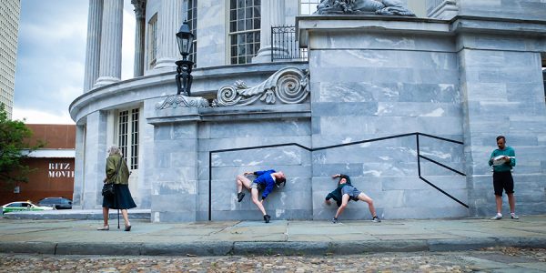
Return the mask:
M177 32L182 25L182 4L180 0L161 1L161 11L157 18L159 43L157 65L155 68L176 69L175 62L180 58L177 45Z

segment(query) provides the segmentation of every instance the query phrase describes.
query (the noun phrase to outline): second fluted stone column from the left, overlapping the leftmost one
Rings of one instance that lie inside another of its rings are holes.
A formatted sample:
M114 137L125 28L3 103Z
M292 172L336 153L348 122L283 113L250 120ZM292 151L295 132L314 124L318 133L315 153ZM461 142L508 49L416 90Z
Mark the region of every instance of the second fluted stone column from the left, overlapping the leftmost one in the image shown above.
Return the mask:
M123 0L105 1L100 46L100 68L96 86L116 83L121 78Z

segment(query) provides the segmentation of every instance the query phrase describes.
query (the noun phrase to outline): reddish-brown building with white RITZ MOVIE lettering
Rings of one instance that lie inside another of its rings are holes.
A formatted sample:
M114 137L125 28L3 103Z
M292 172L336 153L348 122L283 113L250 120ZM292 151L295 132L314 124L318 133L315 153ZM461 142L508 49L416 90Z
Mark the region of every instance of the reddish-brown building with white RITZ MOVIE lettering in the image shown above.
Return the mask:
M25 162L34 169L28 182L19 182L15 188L0 188L0 204L31 200L38 202L45 197L66 197L74 193L74 157L76 126L28 124L33 136L31 145L37 140L45 147L35 150Z

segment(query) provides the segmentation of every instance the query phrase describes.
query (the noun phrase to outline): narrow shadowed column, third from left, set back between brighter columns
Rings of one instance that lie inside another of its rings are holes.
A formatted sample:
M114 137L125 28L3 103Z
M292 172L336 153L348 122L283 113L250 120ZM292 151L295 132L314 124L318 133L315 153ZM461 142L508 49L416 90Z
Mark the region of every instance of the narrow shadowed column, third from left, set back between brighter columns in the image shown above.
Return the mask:
M144 75L144 33L146 27L146 0L131 0L135 5L135 70L134 76Z

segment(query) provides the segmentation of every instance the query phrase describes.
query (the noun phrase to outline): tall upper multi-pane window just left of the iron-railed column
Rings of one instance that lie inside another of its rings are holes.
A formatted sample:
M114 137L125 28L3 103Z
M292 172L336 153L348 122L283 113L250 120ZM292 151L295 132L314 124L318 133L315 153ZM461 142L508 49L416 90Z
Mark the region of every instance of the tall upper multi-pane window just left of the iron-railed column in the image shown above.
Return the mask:
M232 65L248 64L259 50L261 0L229 3L230 61Z

